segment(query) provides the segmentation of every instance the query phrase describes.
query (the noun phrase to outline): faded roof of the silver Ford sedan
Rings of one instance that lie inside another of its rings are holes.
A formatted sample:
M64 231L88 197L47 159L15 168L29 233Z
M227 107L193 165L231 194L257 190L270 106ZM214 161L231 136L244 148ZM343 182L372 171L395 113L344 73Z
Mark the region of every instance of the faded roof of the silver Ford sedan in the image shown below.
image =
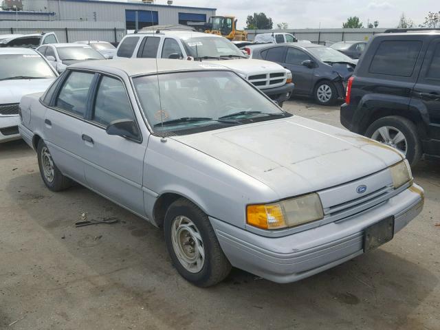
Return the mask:
M198 61L169 60L162 58L118 58L76 63L69 69L88 69L98 72L124 72L128 76L154 74L156 72L193 71L193 70L226 70L222 65Z

